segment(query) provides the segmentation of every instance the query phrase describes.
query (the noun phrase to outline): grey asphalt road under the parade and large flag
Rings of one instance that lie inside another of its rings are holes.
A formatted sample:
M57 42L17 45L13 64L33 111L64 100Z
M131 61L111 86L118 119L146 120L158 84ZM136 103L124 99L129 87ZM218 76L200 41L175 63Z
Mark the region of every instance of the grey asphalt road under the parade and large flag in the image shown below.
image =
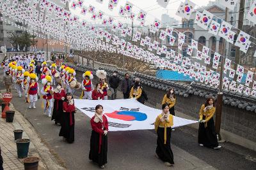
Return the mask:
M2 86L3 88L3 86ZM98 169L88 160L90 148L89 118L76 113L75 143L64 143L58 136L60 126L43 115L41 102L36 110L26 108L24 98L13 94L15 108L35 127L68 169ZM86 104L86 103L84 103ZM198 146L197 132L191 127L180 127L172 133L175 166L170 168L154 157L156 133L154 131L109 132L108 165L106 169L256 169L256 152L232 143L222 143L221 150Z

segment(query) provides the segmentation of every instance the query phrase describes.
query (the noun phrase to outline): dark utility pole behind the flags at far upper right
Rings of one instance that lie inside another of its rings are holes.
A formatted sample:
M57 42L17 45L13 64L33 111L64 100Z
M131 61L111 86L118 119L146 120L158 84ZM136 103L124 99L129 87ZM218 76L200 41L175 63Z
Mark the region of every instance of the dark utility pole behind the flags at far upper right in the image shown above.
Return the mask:
M244 24L244 4L245 4L245 0L240 0L237 29L240 29L242 31L243 31L243 24ZM241 52L240 52L238 46L236 46L235 62L236 62L236 64L240 64L240 62L241 62ZM237 66L235 66L235 70L236 70L236 67Z

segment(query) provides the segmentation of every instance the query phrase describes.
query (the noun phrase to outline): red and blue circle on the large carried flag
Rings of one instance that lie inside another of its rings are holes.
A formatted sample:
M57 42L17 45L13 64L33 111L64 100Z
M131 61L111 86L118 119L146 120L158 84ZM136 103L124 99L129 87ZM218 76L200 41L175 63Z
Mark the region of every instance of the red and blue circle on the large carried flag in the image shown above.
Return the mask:
M113 111L112 113L105 113L104 115L125 121L143 121L147 119L147 114L139 111Z

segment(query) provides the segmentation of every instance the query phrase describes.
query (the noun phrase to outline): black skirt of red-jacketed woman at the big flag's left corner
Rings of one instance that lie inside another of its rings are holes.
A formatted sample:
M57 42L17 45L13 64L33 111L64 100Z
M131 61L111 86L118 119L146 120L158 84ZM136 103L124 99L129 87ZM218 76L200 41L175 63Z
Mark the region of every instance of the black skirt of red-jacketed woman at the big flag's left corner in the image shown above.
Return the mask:
M67 139L68 143L73 143L75 138L75 117L74 112L72 114L72 122L73 124L70 125L70 113L63 112L63 115L61 116L61 129L59 136L63 136Z

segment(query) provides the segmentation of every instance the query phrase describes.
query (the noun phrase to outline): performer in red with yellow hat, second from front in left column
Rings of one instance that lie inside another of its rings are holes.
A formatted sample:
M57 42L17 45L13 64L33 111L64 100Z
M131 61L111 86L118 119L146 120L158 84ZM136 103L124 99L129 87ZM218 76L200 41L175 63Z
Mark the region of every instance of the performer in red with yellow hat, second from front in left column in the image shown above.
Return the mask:
M35 109L36 108L36 101L38 100L39 96L39 84L37 83L38 77L35 73L29 74L28 77L28 86L26 88L26 98L28 99L29 106L28 108Z

